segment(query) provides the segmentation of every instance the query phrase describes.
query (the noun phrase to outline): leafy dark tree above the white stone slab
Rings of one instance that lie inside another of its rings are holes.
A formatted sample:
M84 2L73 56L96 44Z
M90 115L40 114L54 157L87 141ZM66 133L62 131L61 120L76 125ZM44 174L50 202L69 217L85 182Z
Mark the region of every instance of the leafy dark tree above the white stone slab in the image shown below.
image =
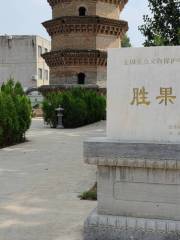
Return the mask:
M180 45L180 1L148 0L151 16L144 15L139 30L145 36L144 46Z

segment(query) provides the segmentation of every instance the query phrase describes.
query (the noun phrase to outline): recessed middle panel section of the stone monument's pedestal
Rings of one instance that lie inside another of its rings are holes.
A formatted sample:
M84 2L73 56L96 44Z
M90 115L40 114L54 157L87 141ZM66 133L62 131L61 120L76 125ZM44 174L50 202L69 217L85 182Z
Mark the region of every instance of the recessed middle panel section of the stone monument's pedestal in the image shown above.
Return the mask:
M98 213L180 220L177 174L179 170L100 166Z

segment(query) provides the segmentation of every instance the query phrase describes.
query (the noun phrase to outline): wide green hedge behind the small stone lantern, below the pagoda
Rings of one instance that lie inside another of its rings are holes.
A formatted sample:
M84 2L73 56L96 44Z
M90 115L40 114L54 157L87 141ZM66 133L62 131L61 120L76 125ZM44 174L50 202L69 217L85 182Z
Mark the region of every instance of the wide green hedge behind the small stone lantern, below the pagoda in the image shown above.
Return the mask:
M106 100L95 91L73 88L62 93L50 93L43 101L44 120L51 127L57 126L55 109L64 108L65 128L80 127L105 119Z

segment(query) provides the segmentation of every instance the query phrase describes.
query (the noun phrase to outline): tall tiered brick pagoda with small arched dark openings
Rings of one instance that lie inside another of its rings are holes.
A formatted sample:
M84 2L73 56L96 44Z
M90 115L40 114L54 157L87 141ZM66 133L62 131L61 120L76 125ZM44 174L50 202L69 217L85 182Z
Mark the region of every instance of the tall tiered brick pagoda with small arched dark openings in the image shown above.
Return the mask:
M43 23L52 39L43 54L51 85L106 87L107 49L120 48L128 23L119 20L128 0L48 0L52 20Z

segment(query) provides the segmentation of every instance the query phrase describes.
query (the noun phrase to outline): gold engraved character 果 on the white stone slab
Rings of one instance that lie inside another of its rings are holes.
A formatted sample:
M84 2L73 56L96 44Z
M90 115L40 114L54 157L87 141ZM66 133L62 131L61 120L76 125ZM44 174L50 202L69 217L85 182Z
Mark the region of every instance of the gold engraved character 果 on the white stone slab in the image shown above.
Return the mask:
M165 106L167 106L168 103L174 104L176 96L172 94L172 87L160 88L160 96L156 97L156 99L160 100L159 104L164 103Z

